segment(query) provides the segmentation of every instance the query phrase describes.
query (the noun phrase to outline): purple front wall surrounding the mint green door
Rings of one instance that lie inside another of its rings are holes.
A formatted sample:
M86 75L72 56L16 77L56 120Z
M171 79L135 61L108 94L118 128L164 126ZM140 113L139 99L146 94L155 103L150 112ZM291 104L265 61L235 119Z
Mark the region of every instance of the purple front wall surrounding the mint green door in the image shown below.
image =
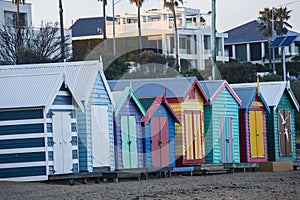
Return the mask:
M136 134L137 134L137 152L138 167L143 167L143 136L141 127L142 114L132 99L127 99L117 116L115 116L115 148L116 148L116 168L123 168L122 161L122 136L121 136L121 116L136 117Z

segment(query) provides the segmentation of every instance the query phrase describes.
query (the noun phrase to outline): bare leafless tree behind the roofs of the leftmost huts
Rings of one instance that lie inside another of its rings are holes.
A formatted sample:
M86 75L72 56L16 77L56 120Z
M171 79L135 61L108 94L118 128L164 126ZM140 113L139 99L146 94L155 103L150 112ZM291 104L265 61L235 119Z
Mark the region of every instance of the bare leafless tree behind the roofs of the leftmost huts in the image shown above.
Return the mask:
M39 29L20 28L22 46L18 46L18 30L11 26L0 26L0 64L58 62L61 59L61 37L58 23L41 23ZM66 36L66 41L70 36ZM70 58L65 43L66 58ZM17 53L16 53L17 52Z

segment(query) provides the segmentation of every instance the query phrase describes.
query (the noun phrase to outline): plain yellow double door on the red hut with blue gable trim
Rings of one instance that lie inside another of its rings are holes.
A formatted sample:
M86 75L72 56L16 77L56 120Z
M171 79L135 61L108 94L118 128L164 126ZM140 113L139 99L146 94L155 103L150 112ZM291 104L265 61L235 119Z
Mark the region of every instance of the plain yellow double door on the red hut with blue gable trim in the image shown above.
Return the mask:
M263 111L249 111L251 157L265 156Z

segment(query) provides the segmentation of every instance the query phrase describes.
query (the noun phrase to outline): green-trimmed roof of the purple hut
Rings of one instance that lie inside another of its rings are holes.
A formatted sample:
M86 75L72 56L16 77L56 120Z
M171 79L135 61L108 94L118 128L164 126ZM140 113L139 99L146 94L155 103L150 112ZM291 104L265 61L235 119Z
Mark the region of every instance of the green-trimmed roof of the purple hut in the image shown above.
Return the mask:
M123 91L113 91L112 92L113 98L114 98L114 108L115 108L115 114L118 114L118 112L121 110L124 102L127 98L130 98L134 101L142 115L145 115L146 110L143 107L143 104L140 102L140 100L136 97L133 90L130 87L126 87Z

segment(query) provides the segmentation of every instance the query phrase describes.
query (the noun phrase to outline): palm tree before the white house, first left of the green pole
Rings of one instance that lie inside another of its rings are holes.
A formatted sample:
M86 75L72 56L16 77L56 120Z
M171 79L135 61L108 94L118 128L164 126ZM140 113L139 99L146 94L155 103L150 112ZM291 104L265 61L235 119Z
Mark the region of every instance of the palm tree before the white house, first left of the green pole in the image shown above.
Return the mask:
M174 48L175 48L175 67L180 72L181 67L179 65L178 60L178 41L177 41L177 21L176 21L176 13L175 7L179 5L179 3L183 4L182 0L164 0L164 7L169 8L173 15L173 22L174 22Z

